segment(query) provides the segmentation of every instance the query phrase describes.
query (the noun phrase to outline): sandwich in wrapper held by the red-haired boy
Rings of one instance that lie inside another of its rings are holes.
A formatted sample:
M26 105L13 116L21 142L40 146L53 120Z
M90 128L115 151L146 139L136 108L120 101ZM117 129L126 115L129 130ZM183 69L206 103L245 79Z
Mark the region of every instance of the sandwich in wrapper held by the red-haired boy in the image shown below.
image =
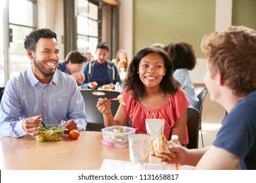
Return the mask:
M163 161L171 161L176 157L175 153L169 151L169 143L164 135L160 135L154 141L151 141L150 155L163 159Z

